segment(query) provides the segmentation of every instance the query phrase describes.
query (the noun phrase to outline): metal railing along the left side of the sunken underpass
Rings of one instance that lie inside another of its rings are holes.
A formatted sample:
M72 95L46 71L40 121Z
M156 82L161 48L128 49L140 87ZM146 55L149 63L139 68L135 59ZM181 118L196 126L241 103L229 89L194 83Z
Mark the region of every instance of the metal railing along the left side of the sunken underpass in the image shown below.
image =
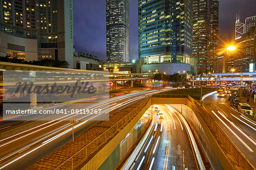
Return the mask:
M55 169L73 169L76 166L80 165L82 161L85 161L86 159L88 159L89 155L97 151L97 149L101 146L101 144L104 144L106 141L108 141L111 137L113 137L113 134L115 134L115 132L117 132L118 130L121 130L121 128L123 128L123 126L126 125L127 122L129 122L132 118L134 118L134 116L137 115L137 113L141 111L141 109L143 109L144 105L146 105L148 100L149 100L149 97L144 99L144 101L141 104L135 107L125 117L123 117L113 126L109 127L108 130L106 130L103 134L98 136L96 139L92 140L92 142L86 144L85 147L83 147L80 151L76 152L76 154L74 154L73 156L69 157L69 159L65 160L62 164L60 164Z

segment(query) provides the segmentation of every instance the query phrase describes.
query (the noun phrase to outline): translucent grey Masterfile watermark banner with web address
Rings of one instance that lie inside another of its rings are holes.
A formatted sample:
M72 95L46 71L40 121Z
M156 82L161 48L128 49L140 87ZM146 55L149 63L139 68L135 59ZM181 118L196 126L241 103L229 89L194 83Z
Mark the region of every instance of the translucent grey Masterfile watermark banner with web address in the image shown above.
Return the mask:
M108 120L109 77L105 71L3 71L3 120Z

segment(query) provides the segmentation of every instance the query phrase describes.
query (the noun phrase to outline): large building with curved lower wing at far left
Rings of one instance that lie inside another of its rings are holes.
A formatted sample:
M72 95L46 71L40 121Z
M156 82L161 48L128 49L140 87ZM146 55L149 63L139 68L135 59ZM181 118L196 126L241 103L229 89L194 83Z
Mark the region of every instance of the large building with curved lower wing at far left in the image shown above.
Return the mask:
M73 68L73 0L2 0L0 55L66 60Z

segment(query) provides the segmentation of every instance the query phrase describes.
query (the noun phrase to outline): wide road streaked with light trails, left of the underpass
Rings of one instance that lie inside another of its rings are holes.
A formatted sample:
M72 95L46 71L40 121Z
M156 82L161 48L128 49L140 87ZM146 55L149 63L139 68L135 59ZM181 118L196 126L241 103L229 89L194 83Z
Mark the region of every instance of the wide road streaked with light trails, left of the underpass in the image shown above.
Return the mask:
M108 106L110 115L116 111L138 102L139 100L155 93L163 92L163 90L146 90L137 93L126 94L125 96L118 96L103 100L100 103L88 104L84 103L77 105L75 109L83 109L86 107L93 107L93 109L102 109ZM61 106L63 109L72 107L72 105ZM102 116L104 112L102 112ZM79 115L77 115L79 116ZM88 115L87 121L77 121L79 118L75 117L74 133L75 136L81 134L86 128L91 127L97 121L90 121L98 115ZM100 115L101 116L101 115ZM34 117L31 115L31 119ZM70 115L63 118L63 121L48 121L40 127L31 128L28 131L22 132L18 135L0 141L0 169L24 169L34 164L36 161L46 156L56 148L72 140L72 123ZM30 119L23 122L1 122L1 131L8 131L13 128L23 126L31 123Z

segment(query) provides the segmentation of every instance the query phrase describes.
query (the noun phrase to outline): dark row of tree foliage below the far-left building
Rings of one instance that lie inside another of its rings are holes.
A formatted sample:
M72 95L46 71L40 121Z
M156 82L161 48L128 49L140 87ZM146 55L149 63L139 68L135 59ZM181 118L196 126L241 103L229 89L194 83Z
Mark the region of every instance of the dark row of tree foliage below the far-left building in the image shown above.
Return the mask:
M22 59L18 59L16 57L10 58L10 56L1 57L0 61L9 62L9 63L18 63L18 64L31 64L31 65L40 65L46 67L59 67L59 68L68 68L68 61L60 61L60 60L52 60L52 59L44 59L38 61L24 61Z

